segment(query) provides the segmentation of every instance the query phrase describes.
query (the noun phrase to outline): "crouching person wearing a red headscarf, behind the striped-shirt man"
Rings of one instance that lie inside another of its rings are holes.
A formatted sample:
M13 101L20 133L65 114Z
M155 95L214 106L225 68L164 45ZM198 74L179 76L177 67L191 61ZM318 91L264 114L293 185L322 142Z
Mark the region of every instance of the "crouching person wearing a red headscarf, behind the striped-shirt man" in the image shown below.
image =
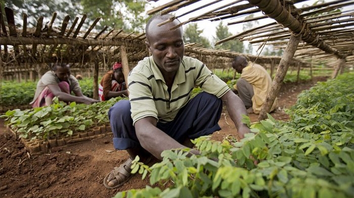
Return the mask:
M126 89L124 81L122 64L115 62L112 70L108 71L100 82L98 88L98 97L100 100L105 101L118 96L128 96L128 90Z

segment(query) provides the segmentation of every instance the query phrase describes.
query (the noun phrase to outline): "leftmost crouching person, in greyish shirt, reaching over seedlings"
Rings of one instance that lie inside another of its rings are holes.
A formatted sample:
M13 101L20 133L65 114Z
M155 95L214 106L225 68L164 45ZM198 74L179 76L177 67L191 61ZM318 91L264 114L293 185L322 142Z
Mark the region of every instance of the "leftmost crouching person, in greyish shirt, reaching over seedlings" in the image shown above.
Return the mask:
M70 65L50 63L51 71L46 72L37 83L36 91L30 104L32 107L49 106L56 96L64 102L92 104L99 102L82 94L77 79L70 74ZM71 92L75 96L71 95Z

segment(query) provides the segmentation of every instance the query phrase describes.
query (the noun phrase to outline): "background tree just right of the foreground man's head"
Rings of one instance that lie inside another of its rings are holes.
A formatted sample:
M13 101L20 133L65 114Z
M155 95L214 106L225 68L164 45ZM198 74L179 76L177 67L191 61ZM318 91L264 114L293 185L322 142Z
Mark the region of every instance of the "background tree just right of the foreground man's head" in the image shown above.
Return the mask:
M184 40L186 43L200 43L204 47L211 47L210 41L201 36L203 30L198 30L197 23L190 23L187 25L184 34Z

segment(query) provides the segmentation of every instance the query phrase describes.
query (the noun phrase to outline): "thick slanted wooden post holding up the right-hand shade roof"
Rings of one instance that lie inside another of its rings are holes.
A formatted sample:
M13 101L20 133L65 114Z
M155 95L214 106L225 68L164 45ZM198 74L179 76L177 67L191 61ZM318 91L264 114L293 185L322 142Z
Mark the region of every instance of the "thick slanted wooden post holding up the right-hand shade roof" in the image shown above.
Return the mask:
M289 64L292 60L292 57L294 56L294 53L297 49L297 45L299 44L300 40L300 36L290 36L288 44L285 48L285 52L279 62L277 73L273 79L272 88L268 92L267 97L264 100L263 106L259 112L258 120L263 120L267 118L267 113L271 111L272 105L278 95L286 72L288 71Z

